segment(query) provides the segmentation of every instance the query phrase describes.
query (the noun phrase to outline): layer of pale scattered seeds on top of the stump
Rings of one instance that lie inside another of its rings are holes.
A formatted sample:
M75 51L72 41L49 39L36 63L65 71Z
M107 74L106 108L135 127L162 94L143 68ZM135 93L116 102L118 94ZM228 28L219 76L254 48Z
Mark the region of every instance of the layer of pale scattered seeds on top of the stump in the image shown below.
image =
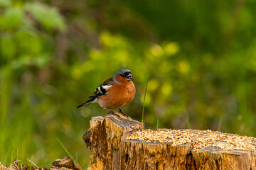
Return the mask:
M191 149L216 147L220 150L256 152L256 138L211 130L142 130L132 132L125 140L148 143L167 143L174 147L191 143Z

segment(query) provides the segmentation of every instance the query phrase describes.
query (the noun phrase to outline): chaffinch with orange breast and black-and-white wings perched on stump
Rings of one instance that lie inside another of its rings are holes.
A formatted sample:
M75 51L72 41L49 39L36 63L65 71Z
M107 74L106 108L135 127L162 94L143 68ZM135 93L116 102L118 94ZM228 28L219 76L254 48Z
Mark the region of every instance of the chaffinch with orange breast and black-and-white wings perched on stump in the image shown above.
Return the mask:
M110 109L119 108L119 113L129 117L121 108L127 106L134 99L136 88L133 78L134 76L129 69L120 69L113 77L100 84L89 96L90 99L80 104L77 108L83 108L90 103L99 103L110 114L117 115ZM119 115L117 116L120 117Z

